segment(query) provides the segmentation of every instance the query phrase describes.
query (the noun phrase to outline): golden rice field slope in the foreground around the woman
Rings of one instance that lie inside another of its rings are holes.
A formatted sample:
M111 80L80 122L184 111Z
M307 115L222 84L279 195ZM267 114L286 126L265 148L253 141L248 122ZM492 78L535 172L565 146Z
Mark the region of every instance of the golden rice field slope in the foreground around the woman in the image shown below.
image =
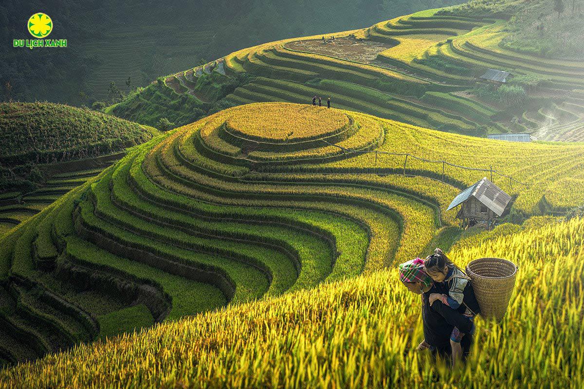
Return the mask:
M391 268L49 355L0 372L0 387L582 387L584 220L491 235L450 253L519 265L505 318L478 319L463 370L413 351L419 297Z

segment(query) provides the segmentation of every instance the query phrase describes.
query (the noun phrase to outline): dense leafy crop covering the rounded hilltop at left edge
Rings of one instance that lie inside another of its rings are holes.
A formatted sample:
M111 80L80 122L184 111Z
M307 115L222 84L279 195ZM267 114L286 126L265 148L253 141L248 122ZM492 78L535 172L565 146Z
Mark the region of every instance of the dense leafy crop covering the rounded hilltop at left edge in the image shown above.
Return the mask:
M0 191L30 191L46 180L48 164L107 156L157 133L87 108L0 103Z

